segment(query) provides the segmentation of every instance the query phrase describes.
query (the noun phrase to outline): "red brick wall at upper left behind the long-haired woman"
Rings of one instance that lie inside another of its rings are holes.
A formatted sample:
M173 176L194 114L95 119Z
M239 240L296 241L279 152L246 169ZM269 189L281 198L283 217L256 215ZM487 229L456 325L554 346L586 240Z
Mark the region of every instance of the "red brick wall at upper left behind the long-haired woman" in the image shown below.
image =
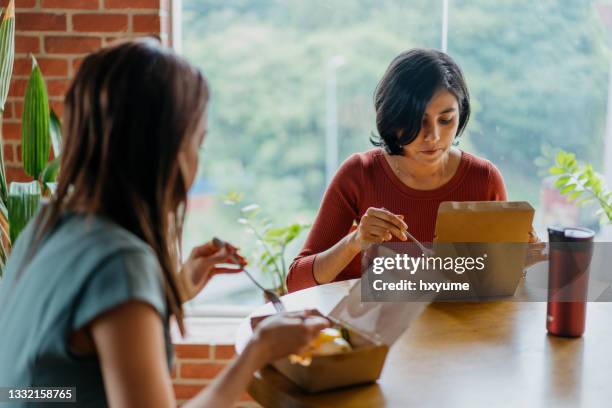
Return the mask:
M15 7L15 65L2 126L8 182L29 180L21 166L20 122L30 53L61 117L64 93L85 54L117 38L146 34L167 44L170 21L170 0L15 0Z

